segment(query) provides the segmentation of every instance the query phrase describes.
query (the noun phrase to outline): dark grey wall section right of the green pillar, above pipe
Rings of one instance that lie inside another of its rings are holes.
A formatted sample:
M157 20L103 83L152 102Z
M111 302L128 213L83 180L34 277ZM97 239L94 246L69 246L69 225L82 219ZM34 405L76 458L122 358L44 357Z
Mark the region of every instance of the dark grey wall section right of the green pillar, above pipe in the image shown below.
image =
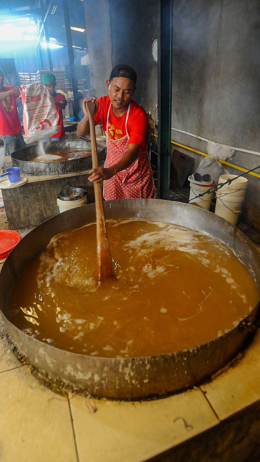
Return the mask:
M259 150L259 0L174 2L173 127Z

